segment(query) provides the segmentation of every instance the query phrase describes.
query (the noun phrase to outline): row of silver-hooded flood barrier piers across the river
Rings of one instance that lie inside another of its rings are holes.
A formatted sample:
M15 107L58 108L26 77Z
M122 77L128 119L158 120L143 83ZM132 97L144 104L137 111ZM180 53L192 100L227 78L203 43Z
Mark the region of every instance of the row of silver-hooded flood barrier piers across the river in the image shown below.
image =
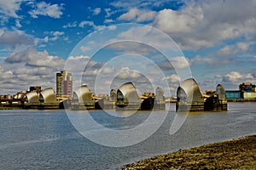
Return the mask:
M195 79L183 81L177 88L176 111L227 111L225 89L218 84L216 90L208 90L201 94ZM0 109L71 109L118 111L166 110L166 98L162 88L154 92L138 94L132 82L112 89L109 95L96 96L88 86L83 85L73 91L73 98L58 98L53 88L32 88L20 99L1 99Z

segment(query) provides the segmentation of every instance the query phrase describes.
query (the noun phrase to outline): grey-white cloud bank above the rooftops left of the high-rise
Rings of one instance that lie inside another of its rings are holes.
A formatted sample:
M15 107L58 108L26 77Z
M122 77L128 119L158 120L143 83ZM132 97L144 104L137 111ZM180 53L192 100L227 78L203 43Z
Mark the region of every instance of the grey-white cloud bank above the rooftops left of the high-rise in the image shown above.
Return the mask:
M55 72L61 71L64 60L46 51L33 48L11 54L0 62L0 94L15 94L30 86L55 88Z

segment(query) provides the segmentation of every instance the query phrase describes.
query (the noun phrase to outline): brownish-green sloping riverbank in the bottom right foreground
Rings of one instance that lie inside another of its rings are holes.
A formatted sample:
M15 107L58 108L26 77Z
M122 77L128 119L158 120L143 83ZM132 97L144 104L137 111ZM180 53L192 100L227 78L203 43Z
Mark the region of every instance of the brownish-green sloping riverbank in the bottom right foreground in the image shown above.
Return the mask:
M256 169L256 135L155 156L121 169Z

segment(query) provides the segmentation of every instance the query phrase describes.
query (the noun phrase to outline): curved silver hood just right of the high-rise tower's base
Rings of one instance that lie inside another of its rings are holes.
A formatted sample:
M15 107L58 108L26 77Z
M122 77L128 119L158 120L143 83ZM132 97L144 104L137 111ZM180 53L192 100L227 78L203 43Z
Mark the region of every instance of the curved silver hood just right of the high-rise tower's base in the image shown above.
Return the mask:
M90 94L90 89L87 86L81 86L79 88L76 88L73 91L73 99L80 104L93 102Z

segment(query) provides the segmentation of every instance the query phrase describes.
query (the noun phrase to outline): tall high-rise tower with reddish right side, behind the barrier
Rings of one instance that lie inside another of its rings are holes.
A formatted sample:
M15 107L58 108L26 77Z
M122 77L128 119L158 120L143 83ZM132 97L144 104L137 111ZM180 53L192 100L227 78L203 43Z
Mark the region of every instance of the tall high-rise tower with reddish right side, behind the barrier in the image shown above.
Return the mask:
M56 73L56 95L59 97L72 97L72 74L67 71Z

